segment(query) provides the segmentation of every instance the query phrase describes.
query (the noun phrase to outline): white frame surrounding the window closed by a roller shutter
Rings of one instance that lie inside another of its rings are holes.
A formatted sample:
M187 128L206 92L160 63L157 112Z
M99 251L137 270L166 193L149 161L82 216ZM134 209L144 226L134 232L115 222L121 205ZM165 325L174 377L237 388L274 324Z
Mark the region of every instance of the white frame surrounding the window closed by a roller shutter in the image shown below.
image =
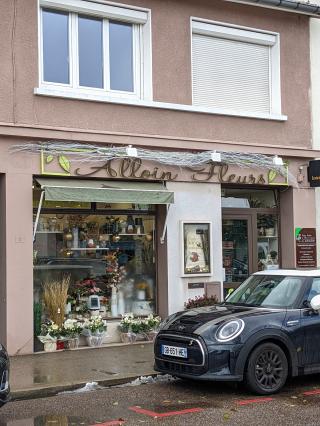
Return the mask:
M219 37L228 40L244 41L247 43L260 44L270 47L270 114L268 116L281 116L281 76L280 76L280 34L264 31L256 28L249 28L239 25L232 25L225 22L210 21L206 19L191 17L191 61L192 61L192 39L193 34L207 35L212 37ZM193 82L193 68L191 62L192 82ZM193 85L192 85L192 103L194 99ZM203 106L205 107L205 105ZM215 108L216 112L220 112L220 108ZM226 115L237 115L236 111L224 110ZM221 109L222 113L222 109ZM239 114L239 113L238 113ZM247 113L251 116L250 113Z

